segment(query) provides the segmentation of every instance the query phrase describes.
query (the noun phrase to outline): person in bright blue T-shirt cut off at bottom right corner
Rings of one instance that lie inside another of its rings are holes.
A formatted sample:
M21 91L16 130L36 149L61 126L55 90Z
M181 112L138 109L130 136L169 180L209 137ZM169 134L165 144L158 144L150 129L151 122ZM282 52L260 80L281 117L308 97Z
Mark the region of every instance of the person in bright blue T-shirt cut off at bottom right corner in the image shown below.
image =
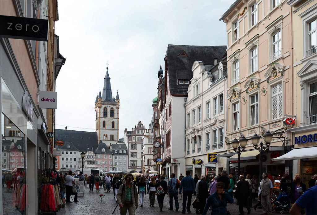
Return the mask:
M315 186L308 188L300 198L291 207L290 214L303 214L304 208L306 208L306 214L317 214L317 181Z

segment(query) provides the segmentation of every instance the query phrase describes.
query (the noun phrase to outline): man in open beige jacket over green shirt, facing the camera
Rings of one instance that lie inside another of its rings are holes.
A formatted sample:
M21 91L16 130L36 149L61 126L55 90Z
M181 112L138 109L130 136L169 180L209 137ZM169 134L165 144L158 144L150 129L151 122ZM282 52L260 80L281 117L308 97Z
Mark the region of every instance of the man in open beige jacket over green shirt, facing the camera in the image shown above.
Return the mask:
M125 180L126 183L120 185L116 195L120 206L120 214L126 214L129 211L129 215L135 215L135 210L138 209L138 191L132 183L133 175L131 173L126 174Z

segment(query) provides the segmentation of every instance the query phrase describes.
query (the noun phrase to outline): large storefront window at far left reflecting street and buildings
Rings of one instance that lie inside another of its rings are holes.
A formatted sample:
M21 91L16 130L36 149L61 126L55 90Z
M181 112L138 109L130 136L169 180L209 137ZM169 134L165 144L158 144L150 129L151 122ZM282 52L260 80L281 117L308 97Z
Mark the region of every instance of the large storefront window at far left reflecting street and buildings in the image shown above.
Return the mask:
M3 214L26 214L25 135L2 114ZM14 134L14 135L13 135ZM4 168L5 167L5 168Z

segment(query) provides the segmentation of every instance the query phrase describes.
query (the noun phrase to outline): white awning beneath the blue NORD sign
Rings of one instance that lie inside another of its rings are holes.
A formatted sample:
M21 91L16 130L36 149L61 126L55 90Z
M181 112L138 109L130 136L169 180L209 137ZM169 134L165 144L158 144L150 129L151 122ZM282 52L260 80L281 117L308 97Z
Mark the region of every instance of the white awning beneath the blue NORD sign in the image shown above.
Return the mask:
M273 158L272 161L316 158L316 154L317 147L294 148L292 151L283 154L278 158Z

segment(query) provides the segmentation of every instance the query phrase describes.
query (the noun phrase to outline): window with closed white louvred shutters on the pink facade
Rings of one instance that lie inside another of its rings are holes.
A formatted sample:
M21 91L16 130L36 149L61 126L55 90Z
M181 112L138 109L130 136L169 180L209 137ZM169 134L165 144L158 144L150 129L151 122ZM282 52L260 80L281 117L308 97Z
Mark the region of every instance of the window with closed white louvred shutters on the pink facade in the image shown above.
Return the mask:
M282 83L278 83L272 87L272 119L282 116Z

